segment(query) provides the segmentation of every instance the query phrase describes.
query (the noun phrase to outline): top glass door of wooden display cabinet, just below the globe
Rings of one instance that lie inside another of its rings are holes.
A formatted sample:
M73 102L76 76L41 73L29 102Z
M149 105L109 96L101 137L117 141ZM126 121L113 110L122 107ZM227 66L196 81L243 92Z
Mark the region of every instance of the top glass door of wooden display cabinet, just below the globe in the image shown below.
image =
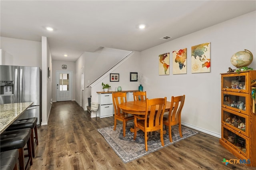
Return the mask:
M246 73L232 73L221 76L222 90L234 91L239 93L248 93L249 86L247 84L248 74Z

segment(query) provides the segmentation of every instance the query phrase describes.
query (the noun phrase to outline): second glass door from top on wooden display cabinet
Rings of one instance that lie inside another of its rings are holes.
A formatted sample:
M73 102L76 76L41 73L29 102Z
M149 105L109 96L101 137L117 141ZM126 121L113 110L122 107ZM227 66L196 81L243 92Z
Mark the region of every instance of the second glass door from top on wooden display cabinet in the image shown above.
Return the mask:
M243 113L248 115L248 111L246 109L250 109L248 107L249 99L248 95L245 93L234 93L228 91L222 91L222 107L231 109L238 113Z

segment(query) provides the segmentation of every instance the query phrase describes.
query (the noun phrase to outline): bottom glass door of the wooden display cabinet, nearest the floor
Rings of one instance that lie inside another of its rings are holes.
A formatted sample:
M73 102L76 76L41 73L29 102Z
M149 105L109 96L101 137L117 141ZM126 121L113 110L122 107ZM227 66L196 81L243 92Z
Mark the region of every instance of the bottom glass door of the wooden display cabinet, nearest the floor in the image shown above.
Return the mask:
M248 157L249 155L249 140L243 134L239 134L236 130L223 125L222 124L222 135L221 139L229 144L234 150L236 150L237 154L241 154L243 156Z

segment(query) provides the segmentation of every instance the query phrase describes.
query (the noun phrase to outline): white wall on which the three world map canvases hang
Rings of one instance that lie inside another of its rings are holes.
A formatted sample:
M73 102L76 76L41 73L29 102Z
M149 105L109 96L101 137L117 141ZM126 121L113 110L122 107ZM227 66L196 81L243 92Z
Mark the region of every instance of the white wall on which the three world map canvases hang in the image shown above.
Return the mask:
M203 22L203 21L202 21ZM210 42L210 73L191 73L191 46ZM187 74L172 75L172 51L187 48ZM204 30L183 36L141 52L140 67L147 81L143 85L148 98L186 95L184 125L220 137L221 77L237 51L250 50L256 69L256 12L239 16ZM158 75L158 55L170 52L170 75Z

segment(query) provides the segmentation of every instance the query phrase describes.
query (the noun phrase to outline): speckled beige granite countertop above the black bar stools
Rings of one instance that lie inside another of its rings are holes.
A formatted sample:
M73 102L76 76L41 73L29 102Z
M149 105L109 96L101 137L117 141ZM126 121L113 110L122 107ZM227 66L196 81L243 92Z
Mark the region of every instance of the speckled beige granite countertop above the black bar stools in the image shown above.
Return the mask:
M0 133L10 126L33 102L0 105Z

